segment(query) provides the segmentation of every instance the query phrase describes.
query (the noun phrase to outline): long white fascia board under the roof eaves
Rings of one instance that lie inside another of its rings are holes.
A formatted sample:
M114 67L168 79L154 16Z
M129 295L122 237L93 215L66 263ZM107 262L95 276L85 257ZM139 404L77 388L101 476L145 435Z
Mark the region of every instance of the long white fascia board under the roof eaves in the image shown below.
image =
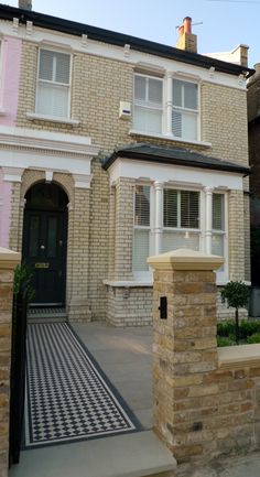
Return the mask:
M187 63L177 62L175 59L163 58L162 56L151 55L149 53L138 52L130 50L126 55L124 47L111 45L108 43L98 42L87 39L83 41L80 36L63 34L61 32L53 32L42 28L33 26L33 32L30 37L26 35L25 25L19 24L18 34L14 33L12 22L0 21L0 34L20 37L21 40L37 43L42 47L53 47L55 50L67 50L68 53L80 52L94 56L101 56L105 58L116 59L124 63L130 63L133 66L140 63L159 67L162 71L171 72L177 75L187 75L196 78L196 80L214 83L217 85L228 86L236 89L246 90L246 79L240 76L229 75L227 73L215 72L212 68L203 68Z

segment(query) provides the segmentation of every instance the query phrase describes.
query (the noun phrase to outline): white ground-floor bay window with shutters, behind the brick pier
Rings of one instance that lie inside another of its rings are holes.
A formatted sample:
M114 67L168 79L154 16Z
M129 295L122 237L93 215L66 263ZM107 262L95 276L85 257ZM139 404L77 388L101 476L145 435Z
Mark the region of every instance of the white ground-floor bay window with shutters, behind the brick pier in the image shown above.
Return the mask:
M136 185L132 270L137 278L148 277L149 256L178 248L205 251L208 243L209 253L227 259L226 194L206 194L206 188L177 189L160 182ZM227 262L217 273L220 281L227 280Z

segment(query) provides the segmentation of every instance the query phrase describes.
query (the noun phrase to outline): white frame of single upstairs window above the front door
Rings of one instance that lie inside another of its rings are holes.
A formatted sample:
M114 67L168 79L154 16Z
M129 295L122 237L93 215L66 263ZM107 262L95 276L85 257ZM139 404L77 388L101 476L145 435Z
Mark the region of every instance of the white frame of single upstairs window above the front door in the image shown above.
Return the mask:
M41 58L41 51L45 50L47 52L52 52L52 53L62 53L65 55L69 56L69 80L68 80L68 85L64 84L64 83L57 83L57 82L51 82L48 79L41 79L39 78L39 74L40 74L40 58ZM72 53L67 52L66 50L57 50L55 47L52 46L41 46L39 48L39 53L37 53L37 77L36 77L36 95L35 95L35 117L40 117L40 118L44 118L46 117L46 119L53 119L55 120L55 122L57 121L63 121L63 120L69 120L71 118L71 101L72 101L72 72L73 72L73 55ZM43 115L42 112L37 111L37 99L39 99L39 85L40 84L45 84L45 85L51 85L53 87L59 87L59 88L67 88L68 90L68 95L67 95L67 115L65 117L62 116L53 116L53 115Z

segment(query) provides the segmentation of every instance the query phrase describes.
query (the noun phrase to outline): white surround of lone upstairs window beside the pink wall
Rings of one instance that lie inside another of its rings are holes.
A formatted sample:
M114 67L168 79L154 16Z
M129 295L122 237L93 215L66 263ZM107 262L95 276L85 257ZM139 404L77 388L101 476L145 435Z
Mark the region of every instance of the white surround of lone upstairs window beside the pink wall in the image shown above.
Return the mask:
M41 55L42 52L47 52L51 55L53 55L53 69L52 69L52 78L42 78L40 76L41 73ZM55 56L56 55L56 56ZM68 79L67 82L57 82L55 76L57 73L57 55L66 55L68 57ZM37 84L36 84L36 97L35 97L35 115L31 115L32 117L35 116L40 119L50 119L50 120L56 120L56 121L69 121L71 119L71 89L72 89L72 54L67 51L52 48L51 46L44 46L39 50L39 57L37 57ZM64 108L64 115L55 113L53 111L44 111L41 109L41 106L39 105L40 101L40 95L41 95L41 87L50 88L50 91L65 91L66 95L66 105Z

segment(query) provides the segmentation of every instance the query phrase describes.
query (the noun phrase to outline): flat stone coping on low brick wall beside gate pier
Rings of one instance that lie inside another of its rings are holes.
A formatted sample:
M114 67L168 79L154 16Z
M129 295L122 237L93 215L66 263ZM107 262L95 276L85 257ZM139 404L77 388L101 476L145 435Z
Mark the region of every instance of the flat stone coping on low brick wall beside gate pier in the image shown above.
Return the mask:
M218 348L219 368L260 368L260 344Z

